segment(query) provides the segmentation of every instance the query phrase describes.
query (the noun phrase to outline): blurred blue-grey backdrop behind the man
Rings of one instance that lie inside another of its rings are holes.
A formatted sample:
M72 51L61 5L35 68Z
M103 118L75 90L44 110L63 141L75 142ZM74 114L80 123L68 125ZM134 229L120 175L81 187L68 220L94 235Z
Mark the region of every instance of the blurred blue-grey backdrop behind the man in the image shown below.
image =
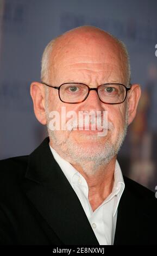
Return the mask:
M128 48L138 113L118 154L123 174L157 185L157 1L0 0L0 159L30 154L47 136L29 94L40 81L42 52L55 36L82 25L104 29Z

